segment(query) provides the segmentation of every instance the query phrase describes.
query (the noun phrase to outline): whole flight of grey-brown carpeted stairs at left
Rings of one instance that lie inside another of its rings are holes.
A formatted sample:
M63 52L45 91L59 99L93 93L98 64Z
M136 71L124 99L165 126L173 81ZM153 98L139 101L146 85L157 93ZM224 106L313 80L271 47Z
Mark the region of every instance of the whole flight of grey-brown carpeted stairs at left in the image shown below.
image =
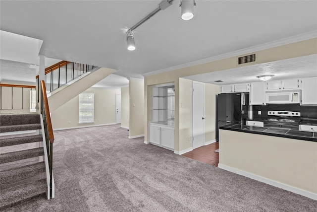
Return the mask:
M40 119L37 113L0 114L0 211L39 195L46 196L45 163L39 162L44 149L36 147L36 142L43 141L42 135L17 134L40 130ZM3 136L7 132L16 134Z

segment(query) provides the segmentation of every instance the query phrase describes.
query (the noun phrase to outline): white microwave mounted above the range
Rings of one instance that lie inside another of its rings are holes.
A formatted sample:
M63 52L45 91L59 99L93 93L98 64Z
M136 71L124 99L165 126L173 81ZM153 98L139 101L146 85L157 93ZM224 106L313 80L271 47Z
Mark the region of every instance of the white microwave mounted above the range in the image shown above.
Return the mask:
M266 91L266 104L299 104L301 102L300 91Z

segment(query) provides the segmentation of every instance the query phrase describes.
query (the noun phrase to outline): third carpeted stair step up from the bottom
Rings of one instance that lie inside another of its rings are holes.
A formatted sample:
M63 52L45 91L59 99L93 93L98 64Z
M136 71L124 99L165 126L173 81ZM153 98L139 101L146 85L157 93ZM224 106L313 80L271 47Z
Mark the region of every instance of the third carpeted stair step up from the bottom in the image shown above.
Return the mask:
M43 147L0 154L0 164L44 155Z

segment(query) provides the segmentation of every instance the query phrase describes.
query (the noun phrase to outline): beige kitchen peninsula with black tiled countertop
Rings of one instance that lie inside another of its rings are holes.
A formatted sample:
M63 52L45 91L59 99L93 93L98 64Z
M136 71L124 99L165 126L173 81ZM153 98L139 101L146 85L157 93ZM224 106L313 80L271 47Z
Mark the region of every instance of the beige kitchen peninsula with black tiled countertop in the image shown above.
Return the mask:
M218 167L317 200L317 133L222 126Z

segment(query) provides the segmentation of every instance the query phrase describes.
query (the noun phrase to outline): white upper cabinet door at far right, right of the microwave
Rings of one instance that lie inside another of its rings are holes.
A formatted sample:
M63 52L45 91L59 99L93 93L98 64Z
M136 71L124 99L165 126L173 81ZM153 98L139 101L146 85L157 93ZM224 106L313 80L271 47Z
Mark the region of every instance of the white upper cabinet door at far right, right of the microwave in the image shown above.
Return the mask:
M302 79L301 105L317 105L317 77Z

